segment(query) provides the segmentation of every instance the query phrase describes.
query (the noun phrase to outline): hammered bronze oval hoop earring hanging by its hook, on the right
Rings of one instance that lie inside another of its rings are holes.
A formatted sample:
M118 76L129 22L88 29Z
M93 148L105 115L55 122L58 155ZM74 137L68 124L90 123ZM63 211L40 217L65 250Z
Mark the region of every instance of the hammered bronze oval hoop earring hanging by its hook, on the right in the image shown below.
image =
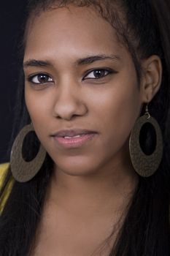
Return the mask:
M155 146L152 148L152 152L144 153L144 148L142 148L142 143L144 143L142 135L144 135L145 138L147 137L148 127L152 128L153 136L151 142L152 144L155 143ZM132 165L139 176L149 177L158 170L163 155L163 138L158 122L155 118L150 116L148 105L145 108L144 116L141 116L136 121L136 124L131 131L129 151Z

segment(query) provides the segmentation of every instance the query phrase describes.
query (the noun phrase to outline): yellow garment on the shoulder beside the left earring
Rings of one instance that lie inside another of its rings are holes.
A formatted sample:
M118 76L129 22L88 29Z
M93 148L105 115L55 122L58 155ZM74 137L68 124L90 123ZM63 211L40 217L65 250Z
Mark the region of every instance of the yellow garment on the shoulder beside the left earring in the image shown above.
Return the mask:
M7 176L8 167L9 167L9 163L0 165L0 189L3 186L4 180ZM0 214L4 209L5 203L7 202L7 199L9 197L9 194L10 194L11 190L12 190L12 186L14 184L14 181L15 181L14 178L9 179L9 181L7 183L7 186L5 187L4 192L1 196L1 199L0 199Z

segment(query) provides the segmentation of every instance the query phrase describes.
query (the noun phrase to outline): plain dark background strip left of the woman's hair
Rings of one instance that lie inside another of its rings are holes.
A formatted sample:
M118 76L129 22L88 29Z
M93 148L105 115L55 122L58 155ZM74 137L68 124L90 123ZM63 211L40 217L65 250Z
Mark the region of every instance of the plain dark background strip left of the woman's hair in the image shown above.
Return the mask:
M26 0L4 1L0 5L0 163L9 162L14 102L18 83L19 35Z

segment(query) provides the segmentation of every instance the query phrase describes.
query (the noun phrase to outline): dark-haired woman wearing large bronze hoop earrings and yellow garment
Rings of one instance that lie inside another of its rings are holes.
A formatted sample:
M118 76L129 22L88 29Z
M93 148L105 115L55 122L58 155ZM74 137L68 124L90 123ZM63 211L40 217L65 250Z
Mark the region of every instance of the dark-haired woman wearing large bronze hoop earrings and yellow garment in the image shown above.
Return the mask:
M1 255L170 254L169 10L30 1Z

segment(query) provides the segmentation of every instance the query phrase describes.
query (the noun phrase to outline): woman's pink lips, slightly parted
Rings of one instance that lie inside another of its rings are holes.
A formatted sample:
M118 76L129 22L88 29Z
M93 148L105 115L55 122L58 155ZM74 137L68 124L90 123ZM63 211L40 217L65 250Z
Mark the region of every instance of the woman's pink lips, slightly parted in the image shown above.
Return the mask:
M67 129L56 132L53 138L63 148L79 148L90 140L93 140L96 135L97 132L88 129Z

